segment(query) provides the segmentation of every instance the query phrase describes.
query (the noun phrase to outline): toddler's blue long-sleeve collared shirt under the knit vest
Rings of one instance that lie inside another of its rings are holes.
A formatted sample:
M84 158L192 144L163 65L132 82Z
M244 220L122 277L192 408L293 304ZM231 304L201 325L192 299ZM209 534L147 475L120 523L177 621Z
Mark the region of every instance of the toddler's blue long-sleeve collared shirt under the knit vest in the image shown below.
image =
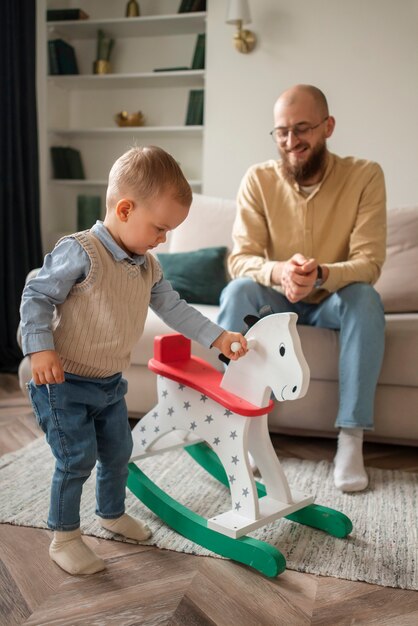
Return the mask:
M91 232L113 255L116 262L146 263L144 255L130 257L115 242L103 222L97 221ZM37 276L28 281L20 307L22 350L31 354L54 350L52 319L54 307L62 304L72 286L83 281L90 270L90 258L73 237L63 239L46 255ZM161 278L151 290L151 309L174 330L209 347L223 329L182 300L171 284Z

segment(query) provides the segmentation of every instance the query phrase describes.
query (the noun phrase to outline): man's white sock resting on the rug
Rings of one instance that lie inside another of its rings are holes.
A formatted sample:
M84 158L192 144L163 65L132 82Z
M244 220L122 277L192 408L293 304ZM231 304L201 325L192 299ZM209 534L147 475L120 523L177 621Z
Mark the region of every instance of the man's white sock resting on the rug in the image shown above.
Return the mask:
M334 458L334 484L341 491L362 491L369 484L363 462L362 428L341 428Z

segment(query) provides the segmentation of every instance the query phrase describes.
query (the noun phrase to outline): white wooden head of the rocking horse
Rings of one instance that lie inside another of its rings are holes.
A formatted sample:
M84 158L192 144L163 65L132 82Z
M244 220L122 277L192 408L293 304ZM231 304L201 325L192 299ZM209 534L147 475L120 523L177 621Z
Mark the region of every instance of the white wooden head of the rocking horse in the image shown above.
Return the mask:
M229 363L221 387L256 406L266 406L271 391L279 401L303 397L310 374L296 321L296 313L274 313L254 324L245 336L250 350Z

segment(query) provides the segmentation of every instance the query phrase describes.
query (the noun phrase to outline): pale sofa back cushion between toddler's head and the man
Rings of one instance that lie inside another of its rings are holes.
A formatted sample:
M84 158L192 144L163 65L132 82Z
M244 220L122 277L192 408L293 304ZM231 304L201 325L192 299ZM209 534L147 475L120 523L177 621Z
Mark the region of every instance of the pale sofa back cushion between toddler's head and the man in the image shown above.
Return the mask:
M170 252L211 246L226 246L231 250L235 206L234 200L195 193L187 219L170 233Z

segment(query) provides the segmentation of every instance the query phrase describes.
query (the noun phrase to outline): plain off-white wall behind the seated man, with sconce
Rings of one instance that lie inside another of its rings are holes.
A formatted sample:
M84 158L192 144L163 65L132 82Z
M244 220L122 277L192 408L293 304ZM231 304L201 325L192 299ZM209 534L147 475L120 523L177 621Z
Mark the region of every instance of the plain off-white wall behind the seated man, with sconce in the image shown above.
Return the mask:
M239 54L226 0L208 0L204 193L234 198L246 168L275 158L277 96L326 94L329 147L378 161L388 207L418 202L418 0L249 0L257 48Z

